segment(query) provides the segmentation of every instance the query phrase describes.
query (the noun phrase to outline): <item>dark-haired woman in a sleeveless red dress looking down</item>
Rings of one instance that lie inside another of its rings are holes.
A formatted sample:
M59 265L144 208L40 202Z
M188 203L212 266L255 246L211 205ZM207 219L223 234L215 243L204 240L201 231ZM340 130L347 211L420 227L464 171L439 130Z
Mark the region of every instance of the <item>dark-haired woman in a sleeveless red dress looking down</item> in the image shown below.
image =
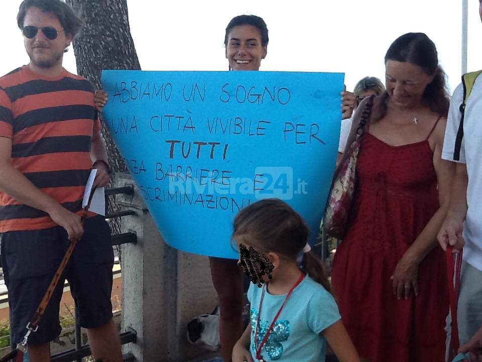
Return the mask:
M452 175L441 159L449 106L445 74L423 33L395 40L385 65L387 92L375 98L363 137L349 225L333 261L333 289L365 360L442 362L448 289L436 235Z

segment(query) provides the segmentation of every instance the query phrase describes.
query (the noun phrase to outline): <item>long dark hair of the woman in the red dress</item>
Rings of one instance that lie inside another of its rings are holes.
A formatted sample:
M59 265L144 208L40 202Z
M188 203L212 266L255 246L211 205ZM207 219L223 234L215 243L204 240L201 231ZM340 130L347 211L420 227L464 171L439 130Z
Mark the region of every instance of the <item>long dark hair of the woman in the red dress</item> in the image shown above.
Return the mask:
M423 98L433 112L444 117L447 116L450 98L446 75L438 63L435 44L427 35L424 33L407 33L397 38L388 48L385 55L385 64L389 60L418 65L426 74L435 76L425 88ZM382 113L383 117L386 109Z

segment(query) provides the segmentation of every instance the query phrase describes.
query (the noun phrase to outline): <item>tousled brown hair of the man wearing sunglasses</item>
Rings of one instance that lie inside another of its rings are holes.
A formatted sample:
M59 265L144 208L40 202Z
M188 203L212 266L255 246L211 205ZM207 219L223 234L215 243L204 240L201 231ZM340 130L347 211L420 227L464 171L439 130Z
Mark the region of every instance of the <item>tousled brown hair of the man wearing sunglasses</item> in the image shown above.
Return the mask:
M72 38L82 28L83 21L75 15L71 7L61 0L24 0L20 4L19 14L17 15L17 25L20 30L23 30L25 15L32 7L39 8L44 13L55 14L65 33L71 35Z

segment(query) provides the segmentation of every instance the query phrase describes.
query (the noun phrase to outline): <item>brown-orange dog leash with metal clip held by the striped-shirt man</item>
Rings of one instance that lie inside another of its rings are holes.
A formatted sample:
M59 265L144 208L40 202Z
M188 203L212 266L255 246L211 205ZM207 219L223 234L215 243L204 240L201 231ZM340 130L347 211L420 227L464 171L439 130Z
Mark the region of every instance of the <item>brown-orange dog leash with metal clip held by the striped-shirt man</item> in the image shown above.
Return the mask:
M96 187L92 188L92 191L90 192L90 195L89 195L89 201L87 203L87 206L83 209L83 214L81 216L82 227L84 226L85 219L87 218L87 211L90 208L90 203L92 202L92 197L94 196L95 189ZM0 362L8 362L13 358L16 358L15 362L23 362L24 354L28 348L27 346L28 346L30 334L35 333L39 329L40 319L42 319L45 313L45 310L47 309L47 306L50 302L50 299L52 298L52 295L55 291L55 288L59 284L60 278L64 273L65 267L67 266L67 263L70 260L70 256L72 255L72 252L74 251L75 245L77 245L77 241L78 239L70 240L69 247L67 248L67 251L65 252L64 257L60 262L59 267L57 268L57 272L55 272L54 278L50 282L49 288L47 288L47 292L45 292L44 297L42 298L42 301L37 307L37 310L35 311L35 314L32 320L26 326L27 333L25 333L24 339L22 340L21 343L17 345L17 348L12 350L9 354L7 354L2 359L0 359Z

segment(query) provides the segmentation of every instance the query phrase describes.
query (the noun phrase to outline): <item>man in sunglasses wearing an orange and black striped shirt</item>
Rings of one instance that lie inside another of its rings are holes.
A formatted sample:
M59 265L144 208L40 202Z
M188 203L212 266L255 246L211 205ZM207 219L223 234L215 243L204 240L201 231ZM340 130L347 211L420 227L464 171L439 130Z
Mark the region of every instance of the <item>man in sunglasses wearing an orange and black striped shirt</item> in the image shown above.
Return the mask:
M79 240L65 277L80 324L96 359L120 362L110 230L99 215L81 222L91 168L97 168L94 186L109 181L94 87L62 67L82 22L61 0L24 0L17 21L30 62L0 78L1 257L13 342L26 334L69 240ZM49 342L61 331L62 291L61 282L29 337L32 362L50 360Z

